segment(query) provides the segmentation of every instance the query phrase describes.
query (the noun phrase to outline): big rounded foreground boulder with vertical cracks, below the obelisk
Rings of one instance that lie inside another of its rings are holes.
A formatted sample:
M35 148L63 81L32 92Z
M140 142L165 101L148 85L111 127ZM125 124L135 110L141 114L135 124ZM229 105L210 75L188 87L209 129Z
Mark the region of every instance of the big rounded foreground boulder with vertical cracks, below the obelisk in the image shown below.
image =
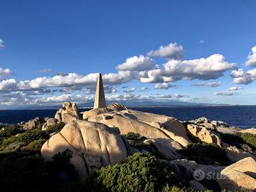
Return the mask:
M88 176L94 169L127 158L127 149L118 129L84 120L66 124L60 132L43 144L41 154L44 159L50 161L54 154L65 149L73 152L70 163L75 166L80 179Z

